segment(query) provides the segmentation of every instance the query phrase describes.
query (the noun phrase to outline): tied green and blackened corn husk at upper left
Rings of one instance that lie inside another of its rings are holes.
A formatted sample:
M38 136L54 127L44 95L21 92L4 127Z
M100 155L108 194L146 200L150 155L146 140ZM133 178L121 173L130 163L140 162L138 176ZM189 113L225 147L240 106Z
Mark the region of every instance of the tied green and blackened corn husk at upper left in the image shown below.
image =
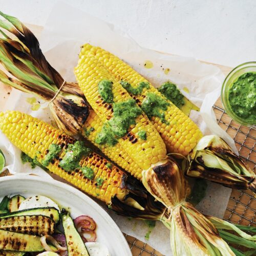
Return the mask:
M89 115L86 98L75 83L65 82L51 67L34 34L17 18L0 12L0 81L15 89L32 93L46 101L60 130L75 135ZM54 98L62 84L62 90ZM54 98L54 100L52 100ZM52 101L51 101L52 100Z

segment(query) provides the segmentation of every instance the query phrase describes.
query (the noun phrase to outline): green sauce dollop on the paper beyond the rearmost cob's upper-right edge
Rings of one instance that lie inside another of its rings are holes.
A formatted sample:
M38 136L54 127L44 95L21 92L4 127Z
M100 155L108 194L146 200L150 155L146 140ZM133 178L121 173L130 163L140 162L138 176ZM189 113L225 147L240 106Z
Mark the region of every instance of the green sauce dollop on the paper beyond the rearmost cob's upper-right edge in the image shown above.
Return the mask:
M185 105L185 97L172 82L164 82L158 91L168 100L172 101L179 109Z

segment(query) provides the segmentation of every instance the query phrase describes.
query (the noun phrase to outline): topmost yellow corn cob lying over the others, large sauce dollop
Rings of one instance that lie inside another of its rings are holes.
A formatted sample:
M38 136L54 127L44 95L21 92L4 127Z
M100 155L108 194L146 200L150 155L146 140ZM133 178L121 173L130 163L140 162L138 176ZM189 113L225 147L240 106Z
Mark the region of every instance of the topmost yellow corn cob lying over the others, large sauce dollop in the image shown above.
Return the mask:
M142 169L148 169L152 164L156 164L166 157L166 148L160 135L146 115L138 108L135 100L93 55L83 55L83 49L75 68L75 74L87 100L104 122L105 127L103 125L103 129L110 129L109 127L111 127L111 134L114 133L115 136L119 136L118 142ZM112 102L107 103L100 96L100 87L98 86L100 82L106 82L111 87ZM133 116L125 120L129 125L125 129L121 129L120 132L118 130L120 126L116 123L124 123L122 114L125 111L126 114L132 113ZM120 112L121 116L115 115L115 113L120 114ZM134 121L131 121L130 119L133 118ZM138 137L140 131L146 132L147 140ZM105 137L109 139L109 136Z

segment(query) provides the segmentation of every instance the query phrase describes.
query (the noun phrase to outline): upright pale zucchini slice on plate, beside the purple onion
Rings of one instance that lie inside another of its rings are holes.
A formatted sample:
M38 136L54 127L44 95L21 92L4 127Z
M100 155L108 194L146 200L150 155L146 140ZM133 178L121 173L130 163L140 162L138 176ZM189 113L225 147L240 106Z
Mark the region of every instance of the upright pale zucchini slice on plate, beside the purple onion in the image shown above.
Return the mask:
M77 232L74 222L67 211L60 215L65 232L69 256L89 256L86 245L83 243L80 234Z

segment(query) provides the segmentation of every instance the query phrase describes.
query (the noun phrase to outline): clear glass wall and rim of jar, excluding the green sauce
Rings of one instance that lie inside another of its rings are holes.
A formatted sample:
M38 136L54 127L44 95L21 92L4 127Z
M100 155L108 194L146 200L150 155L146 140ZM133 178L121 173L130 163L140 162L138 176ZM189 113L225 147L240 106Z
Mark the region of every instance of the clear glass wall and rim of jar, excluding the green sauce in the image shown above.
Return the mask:
M246 62L238 67L234 68L226 77L226 79L223 82L222 89L221 89L221 101L224 106L225 111L227 114L235 121L237 121L240 124L246 125L246 126L254 126L256 125L256 120L249 121L241 118L236 113L234 113L231 109L231 106L229 104L228 95L229 90L232 87L233 83L237 81L237 79L243 75L244 73L248 72L256 72L256 61L252 62ZM256 114L255 114L256 116Z

